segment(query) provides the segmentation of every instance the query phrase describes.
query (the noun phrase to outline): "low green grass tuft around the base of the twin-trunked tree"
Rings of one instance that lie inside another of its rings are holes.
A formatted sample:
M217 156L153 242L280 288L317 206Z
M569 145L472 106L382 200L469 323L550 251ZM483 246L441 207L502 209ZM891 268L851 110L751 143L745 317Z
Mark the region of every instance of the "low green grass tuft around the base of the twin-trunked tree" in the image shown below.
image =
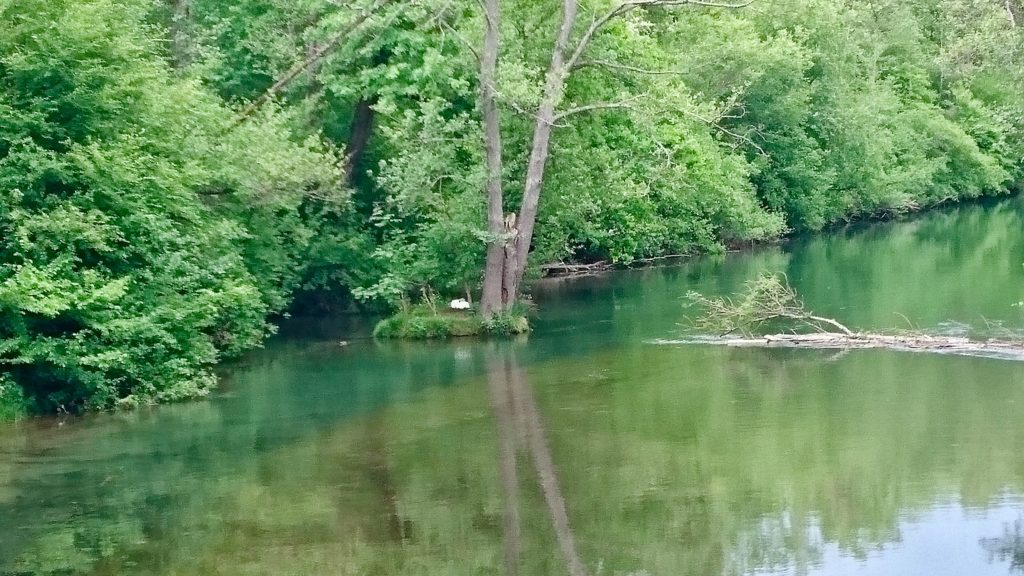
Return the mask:
M429 340L467 336L511 336L529 332L523 311L513 308L484 320L475 311L437 310L419 304L408 306L377 323L374 337Z

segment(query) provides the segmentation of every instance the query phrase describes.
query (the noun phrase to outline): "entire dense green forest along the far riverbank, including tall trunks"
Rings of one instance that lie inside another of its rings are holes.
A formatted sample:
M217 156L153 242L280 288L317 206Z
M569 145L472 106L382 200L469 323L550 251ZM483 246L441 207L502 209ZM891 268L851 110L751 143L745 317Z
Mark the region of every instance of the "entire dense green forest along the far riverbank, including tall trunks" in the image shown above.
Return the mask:
M296 298L1012 193L1018 1L7 0L0 418L203 395Z

